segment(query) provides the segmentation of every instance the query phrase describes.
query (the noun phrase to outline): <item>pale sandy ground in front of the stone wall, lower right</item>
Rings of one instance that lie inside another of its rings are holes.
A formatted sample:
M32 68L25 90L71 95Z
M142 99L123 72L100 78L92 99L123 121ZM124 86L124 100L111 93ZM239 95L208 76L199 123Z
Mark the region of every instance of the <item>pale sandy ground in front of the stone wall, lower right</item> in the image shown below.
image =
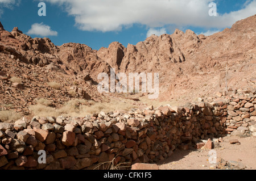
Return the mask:
M237 138L240 145L230 144L231 138ZM214 148L217 157L225 161L237 161L246 166L245 170L256 170L256 137L226 136L220 142L220 148ZM160 170L209 170L209 150L175 150L174 154L158 163Z

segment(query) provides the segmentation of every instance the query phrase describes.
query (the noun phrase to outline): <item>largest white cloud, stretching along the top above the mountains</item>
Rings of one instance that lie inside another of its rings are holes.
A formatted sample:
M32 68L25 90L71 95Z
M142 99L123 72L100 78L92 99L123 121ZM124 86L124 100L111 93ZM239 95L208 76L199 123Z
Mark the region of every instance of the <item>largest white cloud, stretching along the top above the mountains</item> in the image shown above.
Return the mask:
M237 20L256 12L256 0L247 1L241 10L209 16L213 0L46 0L64 6L75 16L76 26L85 31L119 31L135 23L148 28L196 26L231 27ZM218 6L217 6L218 9Z

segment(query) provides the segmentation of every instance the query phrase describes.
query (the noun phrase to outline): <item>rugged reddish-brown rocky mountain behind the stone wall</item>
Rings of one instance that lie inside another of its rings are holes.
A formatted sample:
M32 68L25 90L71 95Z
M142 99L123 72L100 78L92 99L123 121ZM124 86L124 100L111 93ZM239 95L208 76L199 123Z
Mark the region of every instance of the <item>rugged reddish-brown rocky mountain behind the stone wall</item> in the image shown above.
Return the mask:
M115 73L159 73L160 101L182 103L216 92L255 89L255 22L256 15L212 36L175 30L136 45L113 42L99 50L77 43L56 46L48 38L32 39L17 27L5 31L0 23L0 107L13 104L29 112L27 104L35 104L40 96L54 100L56 107L71 98L108 100L109 95L97 91L97 75L110 73L110 68ZM11 82L11 77L21 80ZM59 83L60 89L48 82Z

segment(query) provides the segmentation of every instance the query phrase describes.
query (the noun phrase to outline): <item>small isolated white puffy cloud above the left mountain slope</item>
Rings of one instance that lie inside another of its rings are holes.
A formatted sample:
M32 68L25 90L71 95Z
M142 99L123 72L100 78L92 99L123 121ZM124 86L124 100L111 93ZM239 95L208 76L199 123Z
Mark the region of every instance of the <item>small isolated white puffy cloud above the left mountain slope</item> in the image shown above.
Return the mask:
M28 35L39 35L39 36L57 36L58 32L52 31L51 27L43 23L34 23L31 29L27 32Z

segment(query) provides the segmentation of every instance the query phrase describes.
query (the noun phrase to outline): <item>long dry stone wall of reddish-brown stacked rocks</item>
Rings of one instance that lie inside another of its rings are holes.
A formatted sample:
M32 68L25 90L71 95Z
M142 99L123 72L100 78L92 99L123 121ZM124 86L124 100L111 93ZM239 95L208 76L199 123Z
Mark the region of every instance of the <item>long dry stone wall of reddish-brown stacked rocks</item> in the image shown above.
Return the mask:
M113 159L114 165L154 163L200 140L256 136L255 110L253 92L127 114L23 117L14 124L0 123L0 169L94 169ZM40 150L46 151L46 163L38 162Z

